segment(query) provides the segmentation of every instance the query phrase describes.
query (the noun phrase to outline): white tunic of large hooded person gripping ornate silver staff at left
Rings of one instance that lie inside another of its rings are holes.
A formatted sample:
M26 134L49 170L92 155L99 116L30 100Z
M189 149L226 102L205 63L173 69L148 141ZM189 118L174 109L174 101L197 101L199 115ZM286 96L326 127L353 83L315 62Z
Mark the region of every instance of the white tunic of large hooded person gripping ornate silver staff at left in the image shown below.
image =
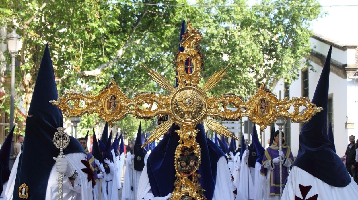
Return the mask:
M20 156L20 153L18 157ZM66 160L69 164L76 169L77 178L74 180L73 186L71 182L68 180L68 177L63 177L63 199L66 200L88 200L93 199L92 196L92 181L87 181L87 174L82 172L81 169L85 168L82 164L81 160L86 160L85 153L69 153L65 155ZM17 162L16 162L17 161ZM16 165L15 165L16 164ZM9 184L6 187L6 195L7 199L13 199L14 193L14 184L16 179L16 172L18 169L18 158L15 160L15 164L13 169L11 170ZM14 173L13 173L14 172ZM11 175L14 176L11 176ZM12 190L11 190L12 188ZM53 165L52 170L50 172L50 176L47 183L47 190L45 200L57 200L58 199L58 172L56 171L56 164Z

